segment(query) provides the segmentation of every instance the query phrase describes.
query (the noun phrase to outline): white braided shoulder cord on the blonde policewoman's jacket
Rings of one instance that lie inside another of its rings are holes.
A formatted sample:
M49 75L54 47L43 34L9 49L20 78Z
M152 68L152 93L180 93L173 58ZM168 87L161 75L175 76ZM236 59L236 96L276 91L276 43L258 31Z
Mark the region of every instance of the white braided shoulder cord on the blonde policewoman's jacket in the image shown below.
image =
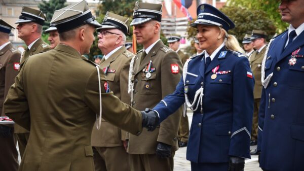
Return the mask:
M188 60L185 62L185 65L184 65L184 67L183 67L182 75L183 75L184 85L185 85L185 79L186 79L187 70L188 70L188 63L189 63L189 61L191 61L191 60L192 60L192 58L188 59ZM186 106L188 106L192 111L198 110L199 105L201 105L201 110L203 111L203 96L204 96L203 91L204 91L204 88L203 88L203 86L201 86L201 88L199 88L199 89L196 91L195 96L194 96L194 100L193 100L192 104L189 102L187 93L184 93L184 94L185 94L185 104L186 104ZM196 103L196 100L197 100L198 97L200 98L200 103L198 102L197 105L196 105L196 108L194 109L193 107L195 106L195 103ZM185 110L183 111L183 116L185 117Z

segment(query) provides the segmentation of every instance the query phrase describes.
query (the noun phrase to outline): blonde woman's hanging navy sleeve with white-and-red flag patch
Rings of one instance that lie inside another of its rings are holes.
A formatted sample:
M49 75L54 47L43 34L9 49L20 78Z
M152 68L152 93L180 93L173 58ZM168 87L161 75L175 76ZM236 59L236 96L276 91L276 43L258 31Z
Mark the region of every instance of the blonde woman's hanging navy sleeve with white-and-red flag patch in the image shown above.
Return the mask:
M233 124L229 155L250 158L254 79L249 61L241 57L233 71Z

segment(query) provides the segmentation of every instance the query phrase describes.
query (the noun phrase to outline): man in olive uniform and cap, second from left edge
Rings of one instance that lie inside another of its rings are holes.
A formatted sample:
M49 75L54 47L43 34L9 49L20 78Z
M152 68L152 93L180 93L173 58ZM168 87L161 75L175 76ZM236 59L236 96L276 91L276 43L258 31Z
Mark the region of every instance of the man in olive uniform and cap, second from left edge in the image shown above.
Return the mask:
M15 23L18 30L18 38L22 39L27 45L27 48L21 54L20 67L22 67L25 59L33 54L48 51L49 45L41 39L42 26L46 20L42 11L23 7L19 20ZM44 63L41 63L42 65ZM29 131L15 124L15 133L17 135L19 152L23 156Z

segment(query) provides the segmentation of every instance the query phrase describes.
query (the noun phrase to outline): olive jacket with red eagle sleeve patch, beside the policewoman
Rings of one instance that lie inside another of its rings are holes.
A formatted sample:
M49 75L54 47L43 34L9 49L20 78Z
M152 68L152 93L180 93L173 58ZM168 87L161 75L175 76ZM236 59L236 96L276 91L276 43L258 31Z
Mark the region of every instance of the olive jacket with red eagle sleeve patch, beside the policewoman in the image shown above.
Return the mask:
M134 83L133 107L138 110L152 109L166 95L173 93L182 75L182 64L176 52L159 41L140 63L142 51L135 56L131 81ZM149 62L155 71L145 77L143 71ZM177 65L178 73L172 73L172 65ZM129 135L127 152L130 154L155 154L158 142L172 146L177 150L177 132L181 109L169 116L153 132L143 130L139 136Z

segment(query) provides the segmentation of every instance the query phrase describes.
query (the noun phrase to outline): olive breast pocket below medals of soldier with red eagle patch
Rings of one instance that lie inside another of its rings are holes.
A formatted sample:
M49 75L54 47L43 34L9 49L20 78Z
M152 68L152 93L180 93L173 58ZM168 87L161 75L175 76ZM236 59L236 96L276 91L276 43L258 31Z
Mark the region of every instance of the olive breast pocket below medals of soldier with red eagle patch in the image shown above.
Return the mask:
M161 89L157 83L157 72L150 73L150 76L148 73L142 73L140 85L142 89L141 94L157 94L158 89Z

